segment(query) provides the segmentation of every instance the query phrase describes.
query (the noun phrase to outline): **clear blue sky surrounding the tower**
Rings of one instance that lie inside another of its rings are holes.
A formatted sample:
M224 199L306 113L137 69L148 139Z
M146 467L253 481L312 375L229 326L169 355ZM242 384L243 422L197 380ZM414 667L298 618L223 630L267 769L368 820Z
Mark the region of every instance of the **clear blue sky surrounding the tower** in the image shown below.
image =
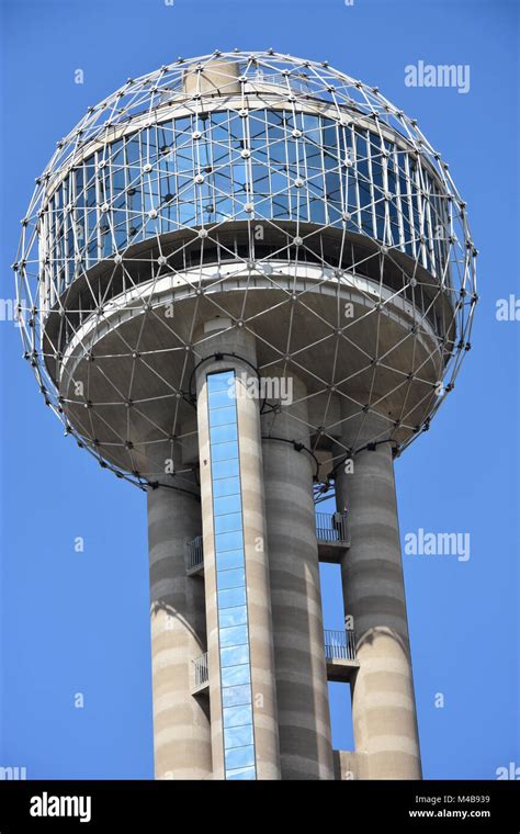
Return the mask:
M471 559L405 556L425 776L494 778L518 751L518 4L488 0L3 0L2 290L20 217L55 143L128 76L179 55L273 46L378 86L450 161L481 257L474 348L429 435L396 465L402 537L470 532ZM468 64L471 90L406 87L418 60ZM74 72L82 69L84 83ZM0 323L0 765L29 778L149 778L145 496L45 409ZM76 553L76 537L84 552ZM334 571L325 621L342 618ZM83 709L75 708L81 692ZM444 708L434 706L444 696ZM351 729L332 691L336 747Z

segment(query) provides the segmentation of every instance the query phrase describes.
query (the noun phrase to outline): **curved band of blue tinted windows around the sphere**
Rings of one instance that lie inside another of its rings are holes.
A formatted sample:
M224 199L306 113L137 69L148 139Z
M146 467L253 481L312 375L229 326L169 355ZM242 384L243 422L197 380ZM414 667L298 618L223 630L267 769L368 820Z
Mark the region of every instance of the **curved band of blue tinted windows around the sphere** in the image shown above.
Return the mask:
M203 132L196 150L195 126ZM301 136L293 135L295 127ZM239 153L246 135L248 164ZM105 164L102 172L100 161ZM152 170L144 173L145 164ZM195 188L201 169L204 182ZM296 177L304 188L295 190ZM394 196L386 205L385 190ZM422 200L419 191L429 196ZM412 165L408 150L382 139L375 128L339 127L321 115L267 110L251 112L247 120L226 111L202 124L191 116L169 120L106 145L64 177L48 203L49 269L63 292L77 274L75 246L90 268L115 249L176 232L180 225L249 219L245 204L252 202L258 217L309 219L340 228L348 223L352 232L420 256L437 274L446 258L445 244L438 243L437 228L448 216L443 206L438 222L439 196L437 180L425 167ZM75 233L65 214L70 201ZM109 211L102 211L103 203ZM148 216L152 208L159 210L157 218ZM347 210L350 221L342 217ZM425 244L417 243L421 235ZM219 379L210 394L218 395L214 405L225 407L233 372L214 375Z

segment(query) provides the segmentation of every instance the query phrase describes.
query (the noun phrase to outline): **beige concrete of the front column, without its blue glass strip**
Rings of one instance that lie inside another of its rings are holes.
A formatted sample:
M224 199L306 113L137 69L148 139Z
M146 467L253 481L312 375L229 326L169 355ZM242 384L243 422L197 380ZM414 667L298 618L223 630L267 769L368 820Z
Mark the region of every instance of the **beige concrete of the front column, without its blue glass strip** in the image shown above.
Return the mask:
M196 341L195 351L199 361L207 358L196 371L196 396L210 653L213 778L224 778L224 737L206 375L210 372L233 369L236 372L238 387L236 405L257 779L280 779L259 402L245 394L247 385L245 377L251 380L256 376L251 368L251 365L256 367L255 337L246 329L231 328L231 323L227 319L215 319L206 324L204 333ZM225 356L222 359L214 359L213 354L219 352Z

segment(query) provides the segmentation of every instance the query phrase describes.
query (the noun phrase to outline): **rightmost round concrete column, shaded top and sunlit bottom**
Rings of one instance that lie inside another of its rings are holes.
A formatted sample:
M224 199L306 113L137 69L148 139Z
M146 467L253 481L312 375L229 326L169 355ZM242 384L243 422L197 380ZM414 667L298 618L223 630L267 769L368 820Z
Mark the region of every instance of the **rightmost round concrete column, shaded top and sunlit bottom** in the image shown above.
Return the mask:
M353 467L352 474L339 467L336 489L351 534L341 572L360 662L352 686L355 751L366 754L369 779L420 779L391 444L355 454Z

